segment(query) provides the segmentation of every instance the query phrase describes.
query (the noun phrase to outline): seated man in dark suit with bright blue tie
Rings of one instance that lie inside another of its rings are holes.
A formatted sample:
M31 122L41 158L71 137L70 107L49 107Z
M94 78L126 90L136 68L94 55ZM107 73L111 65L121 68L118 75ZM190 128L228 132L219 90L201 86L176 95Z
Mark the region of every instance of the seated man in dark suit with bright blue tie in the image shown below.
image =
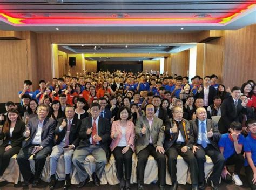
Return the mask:
M220 153L218 146L221 135L217 123L206 118L205 108L197 108L196 114L197 119L190 121L190 128L194 133L194 146L192 151L197 158L199 189L205 188L205 155L208 155L214 164L212 174L208 178L208 181L210 181L212 189L218 189L221 171L225 164L225 158Z

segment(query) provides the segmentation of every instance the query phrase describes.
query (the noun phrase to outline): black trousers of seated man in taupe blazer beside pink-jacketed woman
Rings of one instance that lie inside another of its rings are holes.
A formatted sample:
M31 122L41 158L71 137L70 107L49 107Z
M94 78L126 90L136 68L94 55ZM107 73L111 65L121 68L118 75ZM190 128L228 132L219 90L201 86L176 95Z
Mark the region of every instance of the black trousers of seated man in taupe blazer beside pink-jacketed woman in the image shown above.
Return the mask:
M152 155L157 161L158 167L158 180L160 185L165 185L165 175L166 175L166 160L165 154L156 152L156 148L149 144L146 148L138 153L138 163L137 163L137 181L138 184L143 184L144 182L144 172L147 164L147 158Z

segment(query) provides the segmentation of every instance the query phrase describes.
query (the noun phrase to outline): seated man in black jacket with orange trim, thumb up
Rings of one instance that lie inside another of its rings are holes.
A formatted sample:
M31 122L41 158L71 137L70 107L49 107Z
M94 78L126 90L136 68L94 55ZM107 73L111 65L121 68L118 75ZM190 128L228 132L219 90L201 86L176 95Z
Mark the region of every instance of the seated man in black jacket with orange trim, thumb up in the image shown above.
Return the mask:
M181 101L182 102L182 101ZM198 189L198 166L197 159L192 152L194 144L193 130L190 130L190 123L183 119L183 108L173 108L173 118L170 119L171 125L165 127L164 149L168 157L168 170L171 175L172 190L178 188L177 182L177 157L181 155L190 167L192 189Z

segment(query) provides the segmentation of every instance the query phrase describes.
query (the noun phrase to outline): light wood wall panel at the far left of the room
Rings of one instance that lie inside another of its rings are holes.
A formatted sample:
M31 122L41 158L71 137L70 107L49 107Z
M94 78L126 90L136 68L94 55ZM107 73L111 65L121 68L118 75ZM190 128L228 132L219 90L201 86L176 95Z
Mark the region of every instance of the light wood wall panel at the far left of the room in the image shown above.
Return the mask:
M0 40L0 103L19 102L18 91L29 78L26 40Z

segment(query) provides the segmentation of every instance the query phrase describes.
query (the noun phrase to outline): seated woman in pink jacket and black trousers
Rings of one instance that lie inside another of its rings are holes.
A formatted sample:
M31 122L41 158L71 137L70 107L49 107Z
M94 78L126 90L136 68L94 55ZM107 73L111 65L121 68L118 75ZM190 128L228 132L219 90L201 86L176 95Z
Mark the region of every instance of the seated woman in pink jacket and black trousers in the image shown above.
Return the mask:
M111 128L111 138L113 139L110 149L116 160L117 178L120 181L120 189L130 189L130 179L132 172L132 154L134 152L134 124L129 121L131 111L123 106L118 111L117 121L113 121ZM125 180L124 169L125 166Z

